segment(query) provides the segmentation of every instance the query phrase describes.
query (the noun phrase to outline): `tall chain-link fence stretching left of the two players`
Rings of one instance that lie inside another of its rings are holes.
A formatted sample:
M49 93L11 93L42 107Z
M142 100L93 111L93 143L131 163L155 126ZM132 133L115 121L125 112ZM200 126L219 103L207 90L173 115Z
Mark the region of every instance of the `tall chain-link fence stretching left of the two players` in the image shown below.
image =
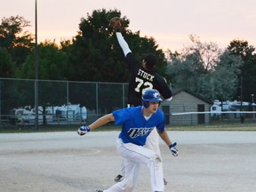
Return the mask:
M0 78L0 123L35 124L35 80ZM128 84L38 80L38 124L82 124L127 106Z

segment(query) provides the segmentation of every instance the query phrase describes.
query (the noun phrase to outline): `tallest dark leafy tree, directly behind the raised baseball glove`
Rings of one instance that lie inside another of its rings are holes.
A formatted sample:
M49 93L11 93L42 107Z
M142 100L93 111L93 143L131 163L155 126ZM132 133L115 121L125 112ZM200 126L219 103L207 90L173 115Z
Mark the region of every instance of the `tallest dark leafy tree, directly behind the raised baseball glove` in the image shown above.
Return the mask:
M114 16L121 17L121 12L96 10L92 15L87 13L86 19L81 19L79 32L73 39L73 45L68 53L69 63L72 65L69 80L127 82L128 72L124 67L124 53L117 43L115 33L108 28L109 20ZM124 17L124 22L128 27L130 20ZM156 53L160 57L159 66L166 66L164 52L156 50L156 41L152 37L140 37L140 32L132 33L128 29L124 29L123 34L135 57L141 60L142 52Z

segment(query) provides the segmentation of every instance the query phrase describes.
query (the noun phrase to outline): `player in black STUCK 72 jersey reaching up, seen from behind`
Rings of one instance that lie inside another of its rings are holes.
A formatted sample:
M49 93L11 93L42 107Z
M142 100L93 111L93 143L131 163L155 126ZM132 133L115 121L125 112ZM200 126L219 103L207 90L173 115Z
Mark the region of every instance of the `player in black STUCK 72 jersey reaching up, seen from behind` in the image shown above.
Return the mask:
M142 63L134 60L133 53L129 48L129 45L124 40L121 32L116 32L117 41L124 52L125 63L129 69L129 87L128 87L128 106L140 106L141 95L146 89L156 89L160 92L163 100L172 100L172 91L169 88L166 80L163 76L156 73L156 56L153 54L146 55ZM156 130L151 132L147 139L147 148L154 150L161 158L161 152L159 148L159 137ZM162 161L158 162L160 166L163 166ZM121 164L121 172L115 178L116 182L123 179L124 175L124 163ZM167 181L164 180L164 184Z

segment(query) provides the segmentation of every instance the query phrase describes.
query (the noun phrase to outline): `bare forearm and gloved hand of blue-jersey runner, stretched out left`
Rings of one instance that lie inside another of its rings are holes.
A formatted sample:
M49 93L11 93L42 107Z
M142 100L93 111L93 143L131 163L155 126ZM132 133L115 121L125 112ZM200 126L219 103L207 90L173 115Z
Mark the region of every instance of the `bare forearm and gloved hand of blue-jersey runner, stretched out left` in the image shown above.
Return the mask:
M97 129L100 126L104 124L108 124L109 122L113 122L113 121L115 121L115 117L113 116L112 113L105 116L101 116L92 124L79 127L79 129L77 130L77 133L82 136L87 132L91 132L92 130Z

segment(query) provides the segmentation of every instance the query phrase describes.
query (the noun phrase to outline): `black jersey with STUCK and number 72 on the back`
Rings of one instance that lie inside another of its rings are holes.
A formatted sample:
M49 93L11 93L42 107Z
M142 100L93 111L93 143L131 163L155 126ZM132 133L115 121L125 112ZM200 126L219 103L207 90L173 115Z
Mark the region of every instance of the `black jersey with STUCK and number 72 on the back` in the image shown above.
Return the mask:
M172 97L172 91L164 80L163 76L155 71L148 71L141 66L138 60L133 58L132 52L125 57L130 77L128 87L128 104L133 106L141 105L141 95L144 89L156 89L164 99Z

